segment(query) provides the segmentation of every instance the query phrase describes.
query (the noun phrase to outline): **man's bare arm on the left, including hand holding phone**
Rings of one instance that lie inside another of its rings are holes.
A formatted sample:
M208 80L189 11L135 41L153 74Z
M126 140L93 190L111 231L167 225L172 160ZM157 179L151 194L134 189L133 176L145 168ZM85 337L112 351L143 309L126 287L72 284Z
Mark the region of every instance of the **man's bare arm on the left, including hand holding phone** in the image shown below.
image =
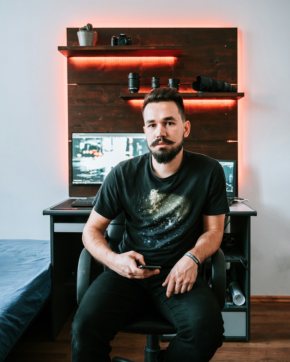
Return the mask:
M134 251L116 254L108 246L104 238L110 219L98 214L94 209L83 230L83 244L90 254L109 269L127 278L147 278L153 274L158 274L159 270L139 269L136 260L141 265L145 265L141 254Z

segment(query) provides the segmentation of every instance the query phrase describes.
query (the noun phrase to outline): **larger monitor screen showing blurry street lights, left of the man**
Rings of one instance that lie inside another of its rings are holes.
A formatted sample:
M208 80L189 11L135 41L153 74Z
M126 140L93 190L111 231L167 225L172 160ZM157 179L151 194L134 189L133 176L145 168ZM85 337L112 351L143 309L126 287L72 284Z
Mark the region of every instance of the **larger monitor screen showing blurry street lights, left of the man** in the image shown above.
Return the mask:
M72 185L101 184L119 162L149 152L144 133L72 133Z

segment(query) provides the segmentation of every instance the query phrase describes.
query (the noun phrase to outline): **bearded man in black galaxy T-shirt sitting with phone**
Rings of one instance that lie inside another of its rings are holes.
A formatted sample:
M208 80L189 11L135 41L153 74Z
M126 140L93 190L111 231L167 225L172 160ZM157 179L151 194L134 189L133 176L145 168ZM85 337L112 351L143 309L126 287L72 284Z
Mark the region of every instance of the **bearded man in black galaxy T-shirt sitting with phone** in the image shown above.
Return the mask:
M109 341L148 303L177 328L162 361L210 361L222 345L221 312L198 266L223 236L229 211L223 168L183 150L190 122L175 88L148 93L142 111L150 153L109 173L83 231L85 247L108 270L92 283L76 313L72 362L111 361ZM122 211L126 231L116 254L103 234ZM145 264L161 269L138 268Z

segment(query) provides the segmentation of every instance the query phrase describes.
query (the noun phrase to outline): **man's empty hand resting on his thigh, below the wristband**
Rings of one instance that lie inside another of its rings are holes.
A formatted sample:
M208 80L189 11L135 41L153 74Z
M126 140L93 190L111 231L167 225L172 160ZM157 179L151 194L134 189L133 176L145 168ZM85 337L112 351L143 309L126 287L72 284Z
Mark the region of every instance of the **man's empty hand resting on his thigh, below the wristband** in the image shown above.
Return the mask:
M163 287L167 286L166 295L168 298L174 294L190 291L197 276L197 264L188 256L183 256L167 275Z

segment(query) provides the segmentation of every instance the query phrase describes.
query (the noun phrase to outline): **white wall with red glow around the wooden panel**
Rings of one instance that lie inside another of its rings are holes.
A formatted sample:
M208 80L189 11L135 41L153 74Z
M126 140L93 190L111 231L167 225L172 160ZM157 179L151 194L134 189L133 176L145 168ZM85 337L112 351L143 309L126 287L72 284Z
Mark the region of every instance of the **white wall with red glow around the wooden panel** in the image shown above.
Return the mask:
M42 210L68 197L66 59L57 51L67 27L237 27L239 194L258 212L251 294L290 295L290 1L10 0L0 13L1 238L49 239Z

